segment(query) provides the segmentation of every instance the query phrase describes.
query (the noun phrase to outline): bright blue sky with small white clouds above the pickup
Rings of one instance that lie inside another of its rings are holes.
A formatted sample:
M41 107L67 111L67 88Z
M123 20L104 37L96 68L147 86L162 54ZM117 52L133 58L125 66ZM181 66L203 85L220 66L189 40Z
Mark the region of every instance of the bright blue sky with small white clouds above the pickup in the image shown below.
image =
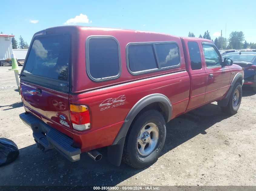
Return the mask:
M21 35L28 44L35 32L65 24L146 30L176 36L188 36L190 31L196 37L208 30L213 40L221 30L225 37L227 24L227 38L231 31L243 31L246 41L256 43L255 0L12 0L1 1L0 7L0 31L13 33L17 40Z

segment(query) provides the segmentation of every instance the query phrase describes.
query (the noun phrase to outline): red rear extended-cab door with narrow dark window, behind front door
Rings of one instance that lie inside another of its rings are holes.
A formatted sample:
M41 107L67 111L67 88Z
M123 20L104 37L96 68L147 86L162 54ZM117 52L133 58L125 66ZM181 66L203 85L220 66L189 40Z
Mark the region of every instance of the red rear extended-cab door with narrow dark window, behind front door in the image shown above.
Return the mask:
M183 38L186 68L190 76L190 93L187 110L203 104L206 89L206 72L199 45L194 39ZM188 51L187 51L188 50Z

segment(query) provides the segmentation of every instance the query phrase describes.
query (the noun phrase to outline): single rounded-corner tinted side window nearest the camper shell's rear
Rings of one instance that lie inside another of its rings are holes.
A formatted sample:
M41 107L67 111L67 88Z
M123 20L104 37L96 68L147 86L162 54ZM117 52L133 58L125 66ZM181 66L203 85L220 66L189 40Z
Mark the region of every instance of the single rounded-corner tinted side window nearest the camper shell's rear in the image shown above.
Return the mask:
M92 80L118 78L119 46L113 37L91 37L88 40L87 73Z

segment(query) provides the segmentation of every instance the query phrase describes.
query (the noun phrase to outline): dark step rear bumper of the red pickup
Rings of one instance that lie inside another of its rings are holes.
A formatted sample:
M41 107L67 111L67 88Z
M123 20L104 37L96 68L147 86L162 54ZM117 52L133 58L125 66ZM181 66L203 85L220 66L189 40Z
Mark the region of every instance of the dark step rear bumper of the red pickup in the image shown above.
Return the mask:
M31 114L21 113L19 116L22 122L32 129L33 137L35 142L40 145L39 147L45 150L55 148L71 162L80 159L81 150L71 146L74 142L70 137L48 126Z

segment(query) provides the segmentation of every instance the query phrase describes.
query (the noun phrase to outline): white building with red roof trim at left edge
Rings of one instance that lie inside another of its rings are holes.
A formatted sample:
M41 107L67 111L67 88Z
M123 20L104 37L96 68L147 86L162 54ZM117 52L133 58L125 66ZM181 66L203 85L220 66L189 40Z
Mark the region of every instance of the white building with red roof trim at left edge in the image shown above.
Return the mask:
M12 57L12 37L14 35L0 34L0 60Z

